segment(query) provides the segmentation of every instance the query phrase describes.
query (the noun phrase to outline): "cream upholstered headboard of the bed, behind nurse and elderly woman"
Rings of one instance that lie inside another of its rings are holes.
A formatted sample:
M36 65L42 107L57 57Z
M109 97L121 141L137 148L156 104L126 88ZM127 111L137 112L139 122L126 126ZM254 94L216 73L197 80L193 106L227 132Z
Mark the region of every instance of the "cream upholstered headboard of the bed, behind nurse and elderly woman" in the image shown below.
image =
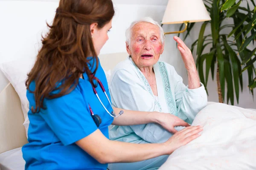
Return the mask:
M99 59L105 71L128 57L127 53L102 54ZM0 82L7 82L3 73L0 73ZM24 117L21 110L20 98L12 84L8 83L0 92L0 153L21 147L27 143Z

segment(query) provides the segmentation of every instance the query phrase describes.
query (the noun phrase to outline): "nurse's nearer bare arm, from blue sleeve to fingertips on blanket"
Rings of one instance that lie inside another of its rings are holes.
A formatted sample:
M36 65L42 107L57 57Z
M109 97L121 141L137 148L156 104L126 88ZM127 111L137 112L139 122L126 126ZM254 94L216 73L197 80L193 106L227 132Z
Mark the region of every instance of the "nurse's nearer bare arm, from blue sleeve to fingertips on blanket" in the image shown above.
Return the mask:
M89 136L76 142L86 153L102 164L114 162L134 162L169 155L178 147L197 138L200 127L187 127L161 144L133 144L111 141L97 129Z

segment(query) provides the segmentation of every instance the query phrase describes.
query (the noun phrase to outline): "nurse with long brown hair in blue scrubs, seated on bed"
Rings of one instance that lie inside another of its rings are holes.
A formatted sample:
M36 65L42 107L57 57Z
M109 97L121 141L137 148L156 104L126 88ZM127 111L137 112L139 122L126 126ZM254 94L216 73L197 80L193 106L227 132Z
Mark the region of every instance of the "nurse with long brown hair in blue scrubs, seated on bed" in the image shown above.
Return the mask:
M108 40L113 15L111 0L60 0L26 81L30 109L29 143L22 148L26 170L106 170L108 163L169 155L202 131L171 114L111 107L97 56ZM169 131L188 127L161 144L108 139L111 124L147 123Z

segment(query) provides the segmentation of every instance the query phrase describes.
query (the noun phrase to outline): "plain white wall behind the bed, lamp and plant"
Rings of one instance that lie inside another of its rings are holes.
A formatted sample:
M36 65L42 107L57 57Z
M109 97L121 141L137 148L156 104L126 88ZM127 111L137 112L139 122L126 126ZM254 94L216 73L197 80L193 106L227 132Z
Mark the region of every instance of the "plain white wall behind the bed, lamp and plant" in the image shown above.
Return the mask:
M116 14L113 18L109 40L101 54L125 52L125 30L129 24L141 17L150 16L160 23L167 0L113 0ZM126 4L129 3L129 4ZM58 0L0 0L0 63L15 59L35 57L40 48L41 33L46 32L46 21L50 23L55 15ZM165 31L176 31L180 25L164 25ZM198 38L201 23L196 23L191 36L186 40L188 47ZM175 66L178 74L187 84L183 61L173 40L174 34L166 35L165 51L161 60ZM182 35L181 35L182 37ZM1 78L0 91L7 81ZM244 75L244 92L240 94L239 106L256 108L256 103L247 90ZM209 79L209 101L218 101L216 82Z

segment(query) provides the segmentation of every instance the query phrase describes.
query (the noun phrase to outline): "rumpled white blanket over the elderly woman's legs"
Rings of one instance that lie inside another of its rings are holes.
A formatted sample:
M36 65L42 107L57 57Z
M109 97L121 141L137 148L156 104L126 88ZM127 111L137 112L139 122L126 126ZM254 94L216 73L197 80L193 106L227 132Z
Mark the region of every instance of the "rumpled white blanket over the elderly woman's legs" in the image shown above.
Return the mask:
M175 150L159 170L256 170L256 111L208 105L192 125L198 139Z

